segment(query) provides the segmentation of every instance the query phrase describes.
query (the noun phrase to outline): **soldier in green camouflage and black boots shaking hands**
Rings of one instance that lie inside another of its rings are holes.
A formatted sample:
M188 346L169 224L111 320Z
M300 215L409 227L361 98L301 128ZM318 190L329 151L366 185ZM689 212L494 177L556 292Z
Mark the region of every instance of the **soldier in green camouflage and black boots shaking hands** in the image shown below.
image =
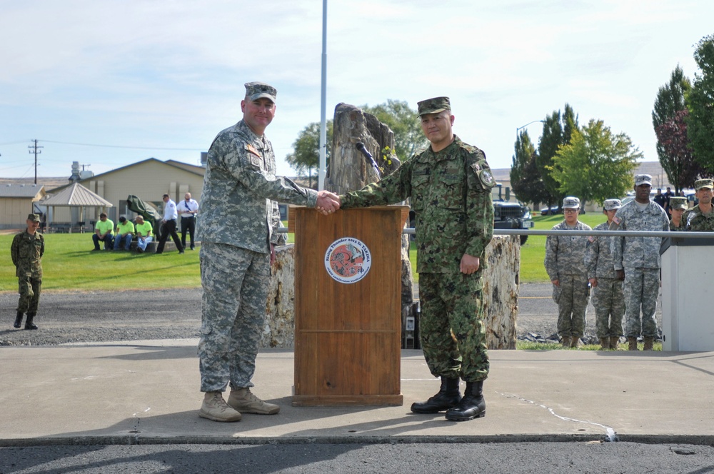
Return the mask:
M391 175L340 196L344 207L378 206L411 197L416 212L417 271L421 301L421 346L441 390L415 413L446 410L449 420L486 413L488 376L481 271L493 236L491 188L483 151L453 134L448 97L418 103L421 127L431 146ZM453 336L452 336L453 331ZM461 398L459 378L466 380Z

